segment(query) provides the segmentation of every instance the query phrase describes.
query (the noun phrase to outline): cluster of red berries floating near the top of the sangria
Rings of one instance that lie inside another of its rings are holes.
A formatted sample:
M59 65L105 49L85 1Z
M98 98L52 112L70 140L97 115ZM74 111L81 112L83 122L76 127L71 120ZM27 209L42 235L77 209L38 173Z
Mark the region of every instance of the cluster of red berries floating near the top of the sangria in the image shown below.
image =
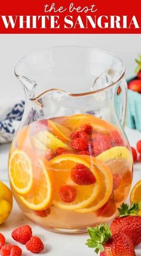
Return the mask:
M71 134L70 146L77 150L78 154L98 156L111 147L123 146L124 141L117 130L110 133L97 132L90 124L84 124L76 132Z

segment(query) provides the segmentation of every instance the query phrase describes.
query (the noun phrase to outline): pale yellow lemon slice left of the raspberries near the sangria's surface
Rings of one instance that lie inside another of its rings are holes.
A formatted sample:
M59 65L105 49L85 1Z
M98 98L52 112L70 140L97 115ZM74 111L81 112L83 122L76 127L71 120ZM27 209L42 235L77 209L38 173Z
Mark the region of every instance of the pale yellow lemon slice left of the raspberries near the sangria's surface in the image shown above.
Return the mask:
M59 147L70 150L70 147L67 144L63 143L60 139L56 138L56 136L47 130L39 132L36 135L36 139L38 139L38 141L41 142L45 147L50 148L53 151L56 151Z

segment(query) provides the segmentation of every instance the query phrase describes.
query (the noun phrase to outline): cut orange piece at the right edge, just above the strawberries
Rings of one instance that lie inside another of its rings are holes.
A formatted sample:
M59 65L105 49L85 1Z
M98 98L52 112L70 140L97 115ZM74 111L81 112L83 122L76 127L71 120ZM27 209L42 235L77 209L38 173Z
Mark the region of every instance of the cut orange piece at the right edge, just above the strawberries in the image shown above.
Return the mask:
M141 203L141 180L139 180L131 190L130 203Z

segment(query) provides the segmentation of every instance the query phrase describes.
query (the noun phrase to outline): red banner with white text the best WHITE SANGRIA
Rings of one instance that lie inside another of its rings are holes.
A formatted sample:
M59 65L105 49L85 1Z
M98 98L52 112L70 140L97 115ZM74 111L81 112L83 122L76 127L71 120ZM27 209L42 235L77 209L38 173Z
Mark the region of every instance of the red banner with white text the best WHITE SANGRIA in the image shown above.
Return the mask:
M140 0L1 0L0 34L141 34Z

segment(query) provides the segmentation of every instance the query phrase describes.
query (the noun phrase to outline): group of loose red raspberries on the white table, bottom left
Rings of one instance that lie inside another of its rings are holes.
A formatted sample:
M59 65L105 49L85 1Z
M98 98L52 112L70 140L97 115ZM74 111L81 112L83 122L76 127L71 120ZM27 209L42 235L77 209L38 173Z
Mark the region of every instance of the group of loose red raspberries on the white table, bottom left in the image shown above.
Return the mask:
M44 249L44 245L39 237L32 236L32 229L28 225L16 228L11 234L14 240L23 245L26 249L35 254L39 254ZM22 249L17 245L5 245L5 237L0 233L0 254L1 256L21 256Z

